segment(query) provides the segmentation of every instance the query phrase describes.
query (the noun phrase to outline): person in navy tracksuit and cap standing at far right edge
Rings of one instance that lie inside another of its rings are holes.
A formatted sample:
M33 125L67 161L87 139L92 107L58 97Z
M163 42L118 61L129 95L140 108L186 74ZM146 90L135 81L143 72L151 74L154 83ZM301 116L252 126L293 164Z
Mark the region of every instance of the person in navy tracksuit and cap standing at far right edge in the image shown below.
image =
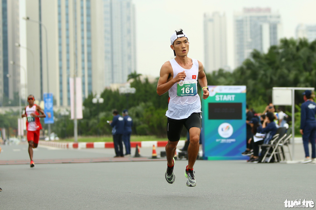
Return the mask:
M305 160L302 163L316 163L316 103L312 100L312 91L305 90L303 93L304 103L301 105L301 134L305 150ZM312 160L309 157L308 142L312 144Z

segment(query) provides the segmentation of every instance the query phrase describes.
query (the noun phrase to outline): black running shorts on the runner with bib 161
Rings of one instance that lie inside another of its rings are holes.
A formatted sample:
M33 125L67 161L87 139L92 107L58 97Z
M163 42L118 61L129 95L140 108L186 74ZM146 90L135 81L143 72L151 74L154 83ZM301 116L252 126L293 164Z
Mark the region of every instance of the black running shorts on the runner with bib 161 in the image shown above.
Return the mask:
M188 118L181 120L174 120L167 117L167 137L169 141L179 141L183 125L188 131L192 127L201 129L201 113L192 113Z

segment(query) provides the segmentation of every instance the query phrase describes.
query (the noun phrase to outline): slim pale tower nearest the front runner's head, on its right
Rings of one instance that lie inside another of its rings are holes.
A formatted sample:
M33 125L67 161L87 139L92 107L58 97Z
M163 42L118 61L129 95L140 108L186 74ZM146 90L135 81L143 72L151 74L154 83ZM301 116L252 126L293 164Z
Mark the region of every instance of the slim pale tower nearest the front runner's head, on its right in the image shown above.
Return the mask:
M204 70L207 73L227 67L226 16L204 14Z

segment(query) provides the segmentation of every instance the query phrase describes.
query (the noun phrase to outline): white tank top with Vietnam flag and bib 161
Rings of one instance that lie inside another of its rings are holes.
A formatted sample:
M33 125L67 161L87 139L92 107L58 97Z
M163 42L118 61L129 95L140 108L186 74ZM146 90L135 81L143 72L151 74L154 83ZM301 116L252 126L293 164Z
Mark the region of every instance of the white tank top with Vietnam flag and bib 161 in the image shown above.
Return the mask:
M170 60L173 69L173 78L179 72L185 71L186 77L178 83L175 83L169 90L169 104L166 116L181 120L188 118L192 113L201 112L201 100L197 94L197 76L198 62L192 59L191 69L182 68L176 60Z

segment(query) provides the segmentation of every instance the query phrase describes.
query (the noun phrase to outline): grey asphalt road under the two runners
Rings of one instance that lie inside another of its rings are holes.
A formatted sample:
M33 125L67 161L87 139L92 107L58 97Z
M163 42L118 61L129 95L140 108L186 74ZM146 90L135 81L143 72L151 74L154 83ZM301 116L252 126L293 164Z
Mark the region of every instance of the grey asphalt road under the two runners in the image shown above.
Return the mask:
M36 161L120 159L112 158L113 149L41 146L34 151L31 169L27 145L2 147L2 163L25 160L25 164L0 165L0 209L285 209L286 199L316 198L316 164L197 160L197 186L187 187L187 160L176 160L176 180L168 184L166 161L147 158L150 148L141 149L146 156L142 161L40 164Z

